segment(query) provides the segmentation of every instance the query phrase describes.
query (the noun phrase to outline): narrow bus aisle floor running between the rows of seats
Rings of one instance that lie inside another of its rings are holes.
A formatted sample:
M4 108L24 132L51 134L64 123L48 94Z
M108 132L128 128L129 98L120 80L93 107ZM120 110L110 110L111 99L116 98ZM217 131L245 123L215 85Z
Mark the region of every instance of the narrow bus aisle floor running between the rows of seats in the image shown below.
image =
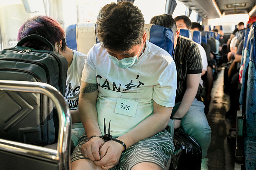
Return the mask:
M234 170L235 142L228 142L227 136L232 127L231 118L225 118L230 107L229 95L224 93L224 68L213 82L212 100L207 120L212 130L212 141L206 158L209 159L209 170Z

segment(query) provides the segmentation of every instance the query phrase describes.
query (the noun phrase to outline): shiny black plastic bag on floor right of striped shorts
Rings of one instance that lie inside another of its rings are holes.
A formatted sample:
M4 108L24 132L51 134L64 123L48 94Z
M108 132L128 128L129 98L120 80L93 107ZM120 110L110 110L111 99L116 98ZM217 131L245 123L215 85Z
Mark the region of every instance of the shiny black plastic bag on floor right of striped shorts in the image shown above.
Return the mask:
M187 135L183 129L174 130L173 143L175 151L172 155L170 170L200 170L202 148L194 137Z

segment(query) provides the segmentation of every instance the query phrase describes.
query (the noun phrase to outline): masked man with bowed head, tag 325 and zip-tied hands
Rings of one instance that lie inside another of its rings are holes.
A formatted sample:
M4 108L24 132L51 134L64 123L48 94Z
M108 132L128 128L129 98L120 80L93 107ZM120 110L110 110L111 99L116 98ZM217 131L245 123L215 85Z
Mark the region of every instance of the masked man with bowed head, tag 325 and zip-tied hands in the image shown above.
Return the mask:
M106 8L97 24L101 43L87 54L79 99L86 133L72 170L163 170L174 151L165 127L175 103L175 62L147 41L132 3Z

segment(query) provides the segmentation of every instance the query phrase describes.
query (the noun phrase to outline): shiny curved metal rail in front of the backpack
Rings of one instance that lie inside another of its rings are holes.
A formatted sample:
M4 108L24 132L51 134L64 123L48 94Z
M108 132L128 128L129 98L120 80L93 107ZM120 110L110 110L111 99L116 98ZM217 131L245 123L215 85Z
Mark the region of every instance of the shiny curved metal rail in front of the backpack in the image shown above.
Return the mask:
M46 83L0 80L0 90L42 93L54 102L59 117L57 150L0 139L0 169L70 170L71 116L62 94Z

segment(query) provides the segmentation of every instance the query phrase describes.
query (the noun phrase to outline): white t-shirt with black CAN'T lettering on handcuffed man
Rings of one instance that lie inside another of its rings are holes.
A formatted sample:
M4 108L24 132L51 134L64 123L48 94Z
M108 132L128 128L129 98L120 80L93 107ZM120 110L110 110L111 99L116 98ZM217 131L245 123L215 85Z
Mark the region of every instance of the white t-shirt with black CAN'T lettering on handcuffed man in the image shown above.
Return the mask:
M87 54L82 81L98 84L97 114L101 133L103 120L110 134L122 136L153 114L153 100L173 107L177 88L175 62L165 50L146 41L144 53L129 68L116 66L102 43L95 44ZM138 88L139 87L139 88ZM134 117L115 113L118 98L138 102Z

